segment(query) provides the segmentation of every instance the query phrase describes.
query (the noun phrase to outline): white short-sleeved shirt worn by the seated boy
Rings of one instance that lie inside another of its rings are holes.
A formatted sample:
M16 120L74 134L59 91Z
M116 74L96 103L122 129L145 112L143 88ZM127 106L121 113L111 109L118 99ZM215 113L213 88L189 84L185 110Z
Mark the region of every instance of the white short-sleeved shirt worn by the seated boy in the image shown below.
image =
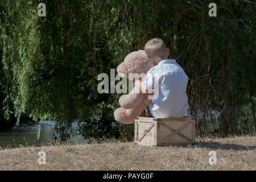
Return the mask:
M154 89L148 106L155 118L184 117L188 110L188 76L174 59L162 60L151 68L144 84Z

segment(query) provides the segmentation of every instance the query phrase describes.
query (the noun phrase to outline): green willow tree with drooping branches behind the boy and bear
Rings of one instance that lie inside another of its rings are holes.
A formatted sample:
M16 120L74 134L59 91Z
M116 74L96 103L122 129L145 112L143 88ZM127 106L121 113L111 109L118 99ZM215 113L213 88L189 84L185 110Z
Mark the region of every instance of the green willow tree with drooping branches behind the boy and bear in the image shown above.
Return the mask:
M254 2L214 1L216 17L208 15L210 2L196 0L46 0L46 17L38 16L41 1L0 3L5 97L17 117L57 121L60 139L74 119L86 121L85 137L122 134L113 119L119 94L99 94L97 76L153 37L166 42L189 77L189 113L203 114L201 134L216 127L211 110L220 112L219 133L255 132Z

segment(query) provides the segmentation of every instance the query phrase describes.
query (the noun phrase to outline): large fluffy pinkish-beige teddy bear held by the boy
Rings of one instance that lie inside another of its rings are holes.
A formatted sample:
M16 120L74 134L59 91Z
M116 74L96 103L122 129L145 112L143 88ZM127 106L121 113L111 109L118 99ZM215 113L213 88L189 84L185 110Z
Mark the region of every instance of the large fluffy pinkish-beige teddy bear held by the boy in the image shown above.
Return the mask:
M125 57L125 60L118 65L117 73L120 77L127 77L134 82L144 81L147 72L154 67L154 64L143 50L134 51ZM142 114L143 110L151 104L148 96L152 93L142 93L138 86L133 84L133 90L119 98L119 107L114 111L116 121L131 124L135 117Z

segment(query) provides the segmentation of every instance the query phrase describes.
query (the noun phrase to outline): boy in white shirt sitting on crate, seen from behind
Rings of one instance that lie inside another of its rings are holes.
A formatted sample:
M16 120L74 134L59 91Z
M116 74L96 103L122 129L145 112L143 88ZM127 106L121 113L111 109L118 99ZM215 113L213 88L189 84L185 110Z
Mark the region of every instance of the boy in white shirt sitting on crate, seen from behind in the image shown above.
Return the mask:
M152 92L152 104L147 107L146 116L155 118L184 117L188 110L186 94L188 76L174 59L168 59L170 50L162 39L148 40L144 51L155 67L147 72L144 82L135 84L143 93ZM140 84L140 85L138 85Z

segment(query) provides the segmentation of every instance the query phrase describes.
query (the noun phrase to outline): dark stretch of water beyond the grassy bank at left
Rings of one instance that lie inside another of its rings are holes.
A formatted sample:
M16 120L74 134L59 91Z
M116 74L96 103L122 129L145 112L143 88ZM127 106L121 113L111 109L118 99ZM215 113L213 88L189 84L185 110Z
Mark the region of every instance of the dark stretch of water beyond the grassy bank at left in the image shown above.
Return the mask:
M77 122L74 122L73 127L77 127ZM49 143L50 137L55 128L54 121L43 121L40 130L40 138L37 139L39 122L27 120L20 121L20 126L13 126L9 129L0 129L0 146L2 148L14 148L22 146L38 146L42 143ZM84 139L81 135L71 137L69 143L82 142Z

